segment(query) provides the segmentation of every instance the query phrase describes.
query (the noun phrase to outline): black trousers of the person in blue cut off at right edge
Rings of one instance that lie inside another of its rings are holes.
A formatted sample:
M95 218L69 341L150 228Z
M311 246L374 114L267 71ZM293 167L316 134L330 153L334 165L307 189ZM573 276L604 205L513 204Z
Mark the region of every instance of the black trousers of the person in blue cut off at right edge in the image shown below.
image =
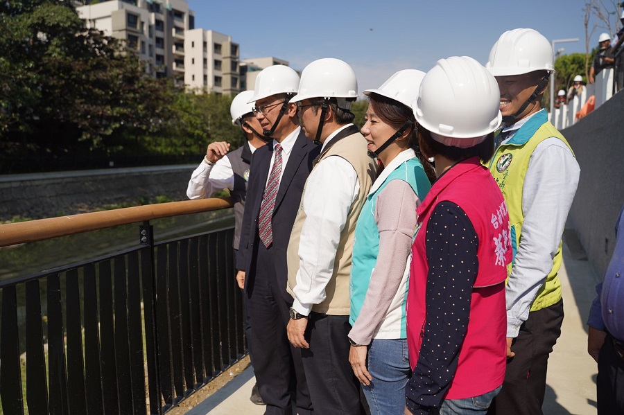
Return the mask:
M617 355L611 335L600 348L596 396L598 415L624 414L624 361Z

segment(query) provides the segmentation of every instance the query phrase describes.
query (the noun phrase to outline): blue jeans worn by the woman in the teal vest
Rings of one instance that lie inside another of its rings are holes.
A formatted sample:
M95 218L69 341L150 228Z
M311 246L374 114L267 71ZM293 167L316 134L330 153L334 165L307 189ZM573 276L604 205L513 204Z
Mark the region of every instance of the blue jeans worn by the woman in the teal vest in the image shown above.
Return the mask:
M362 389L371 415L404 414L405 387L412 374L407 340L373 339L366 366L373 379Z

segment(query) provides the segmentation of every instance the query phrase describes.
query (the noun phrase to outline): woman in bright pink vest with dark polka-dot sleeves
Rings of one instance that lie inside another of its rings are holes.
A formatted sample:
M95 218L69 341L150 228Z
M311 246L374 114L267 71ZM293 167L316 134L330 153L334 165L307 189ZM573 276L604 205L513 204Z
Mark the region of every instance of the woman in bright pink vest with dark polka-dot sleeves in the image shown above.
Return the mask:
M406 414L485 414L503 384L509 215L481 164L494 152L499 103L494 77L467 57L438 61L413 102L437 180L417 209Z

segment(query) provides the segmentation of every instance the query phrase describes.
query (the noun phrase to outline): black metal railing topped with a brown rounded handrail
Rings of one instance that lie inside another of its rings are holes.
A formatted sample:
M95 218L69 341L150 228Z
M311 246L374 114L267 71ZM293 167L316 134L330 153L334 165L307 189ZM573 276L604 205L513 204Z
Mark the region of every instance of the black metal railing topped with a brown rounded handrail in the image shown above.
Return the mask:
M233 229L155 243L149 223L231 206L191 200L0 225L5 247L142 222L136 247L0 282L3 414L24 414L24 401L31 415L163 414L240 360Z

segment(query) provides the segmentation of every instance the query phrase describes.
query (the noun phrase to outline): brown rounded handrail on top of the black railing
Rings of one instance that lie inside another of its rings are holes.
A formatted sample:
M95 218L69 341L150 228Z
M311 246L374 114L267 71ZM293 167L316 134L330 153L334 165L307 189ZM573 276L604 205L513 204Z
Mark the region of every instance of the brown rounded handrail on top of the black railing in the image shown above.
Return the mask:
M233 202L230 197L211 197L209 199L147 204L110 211L80 213L59 218L7 223L0 225L0 247L36 242L37 240L74 235L82 232L98 231L122 224L168 218L175 215L217 211L219 209L227 209L232 207L232 205Z

